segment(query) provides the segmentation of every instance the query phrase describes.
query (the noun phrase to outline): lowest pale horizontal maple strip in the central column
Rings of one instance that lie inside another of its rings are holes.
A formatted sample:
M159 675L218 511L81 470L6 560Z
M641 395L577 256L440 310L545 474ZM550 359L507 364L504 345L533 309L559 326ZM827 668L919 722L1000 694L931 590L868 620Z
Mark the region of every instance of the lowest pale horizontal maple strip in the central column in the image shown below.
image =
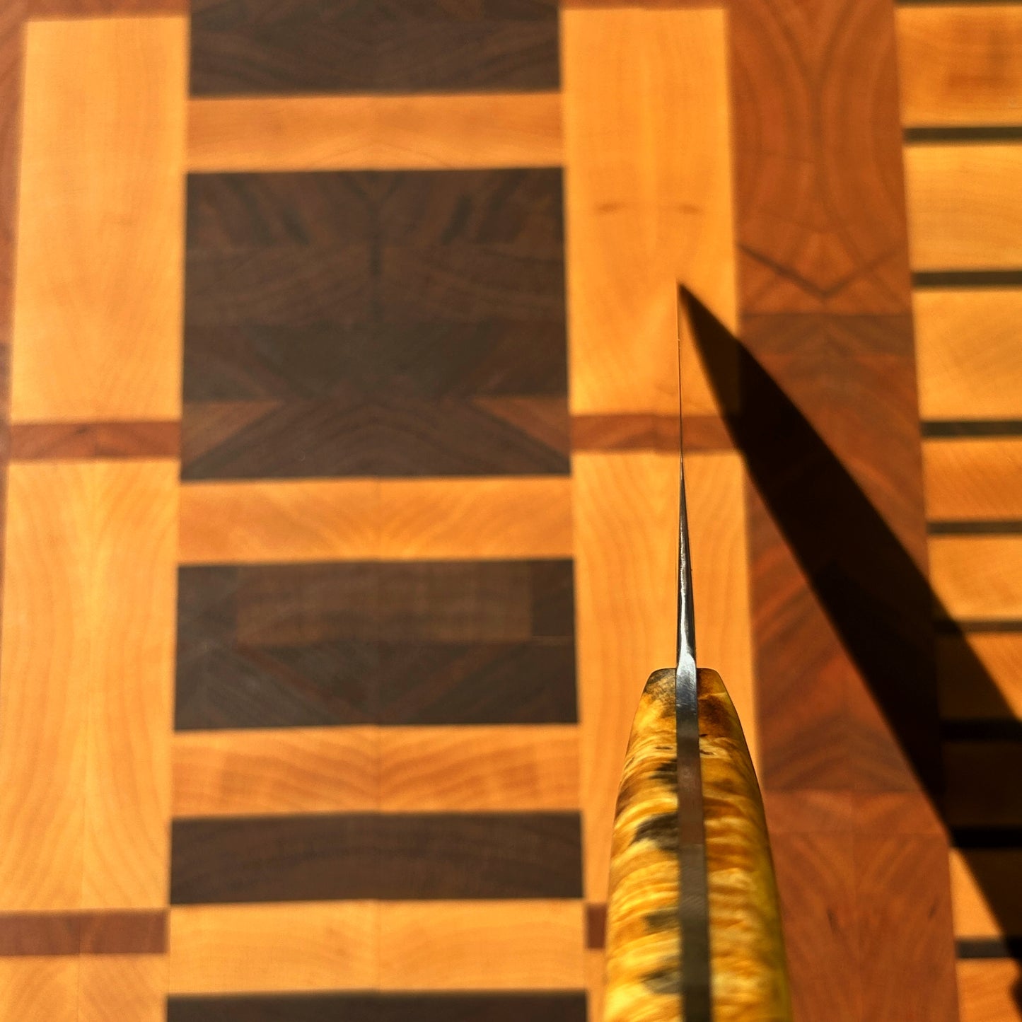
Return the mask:
M177 908L171 992L580 989L582 936L577 901Z

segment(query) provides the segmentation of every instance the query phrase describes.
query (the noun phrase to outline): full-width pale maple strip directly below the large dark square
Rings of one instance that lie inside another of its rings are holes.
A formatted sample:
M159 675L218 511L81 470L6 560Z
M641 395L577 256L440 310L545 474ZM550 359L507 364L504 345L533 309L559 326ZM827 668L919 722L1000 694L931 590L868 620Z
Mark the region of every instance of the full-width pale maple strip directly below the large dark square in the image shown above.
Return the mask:
M183 564L567 557L562 478L303 479L181 487Z

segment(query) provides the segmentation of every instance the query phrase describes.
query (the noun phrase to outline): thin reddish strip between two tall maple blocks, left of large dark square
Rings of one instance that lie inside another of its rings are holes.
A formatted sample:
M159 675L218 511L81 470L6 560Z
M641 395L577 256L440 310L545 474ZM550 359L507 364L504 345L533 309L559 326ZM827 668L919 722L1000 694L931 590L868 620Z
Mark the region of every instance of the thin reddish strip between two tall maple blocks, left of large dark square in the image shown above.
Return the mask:
M10 430L14 461L66 458L177 458L178 422L17 422Z

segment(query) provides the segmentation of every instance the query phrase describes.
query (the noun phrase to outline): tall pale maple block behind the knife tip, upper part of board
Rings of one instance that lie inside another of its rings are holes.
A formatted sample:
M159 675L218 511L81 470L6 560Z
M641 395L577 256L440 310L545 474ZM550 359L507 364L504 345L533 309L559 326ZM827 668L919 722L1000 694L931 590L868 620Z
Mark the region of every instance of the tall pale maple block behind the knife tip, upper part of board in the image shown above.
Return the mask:
M727 53L722 9L562 11L573 414L677 414L679 282L736 326ZM683 359L686 414L713 413Z

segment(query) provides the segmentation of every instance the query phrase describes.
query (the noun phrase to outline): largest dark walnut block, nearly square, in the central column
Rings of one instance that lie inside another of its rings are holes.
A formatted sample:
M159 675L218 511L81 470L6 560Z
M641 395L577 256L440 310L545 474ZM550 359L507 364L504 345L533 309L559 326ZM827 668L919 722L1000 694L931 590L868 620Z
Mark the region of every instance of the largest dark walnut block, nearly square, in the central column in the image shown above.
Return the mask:
M566 474L557 171L201 175L182 477Z

